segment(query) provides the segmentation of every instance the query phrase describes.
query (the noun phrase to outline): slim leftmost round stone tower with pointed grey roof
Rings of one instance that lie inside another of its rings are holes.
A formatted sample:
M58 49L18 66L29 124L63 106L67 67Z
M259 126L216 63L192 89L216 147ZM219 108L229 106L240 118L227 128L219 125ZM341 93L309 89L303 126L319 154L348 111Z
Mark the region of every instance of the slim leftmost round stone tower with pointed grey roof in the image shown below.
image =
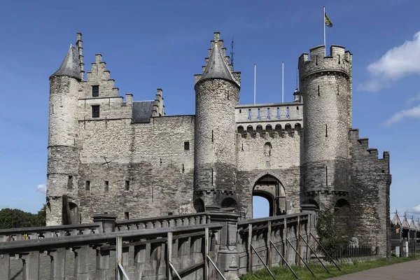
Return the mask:
M78 34L80 38L80 34ZM81 39L78 40L81 43ZM78 90L83 72L80 49L70 46L50 76L48 124L47 225L78 223Z

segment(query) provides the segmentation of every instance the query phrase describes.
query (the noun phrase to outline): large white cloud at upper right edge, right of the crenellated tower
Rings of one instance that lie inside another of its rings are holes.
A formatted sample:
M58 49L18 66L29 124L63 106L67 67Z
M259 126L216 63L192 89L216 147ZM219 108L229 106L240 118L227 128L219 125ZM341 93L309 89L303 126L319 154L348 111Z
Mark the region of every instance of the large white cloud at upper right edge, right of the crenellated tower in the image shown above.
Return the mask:
M420 31L412 41L405 41L388 50L376 62L367 66L370 79L359 85L360 90L378 92L391 82L411 74L420 74Z

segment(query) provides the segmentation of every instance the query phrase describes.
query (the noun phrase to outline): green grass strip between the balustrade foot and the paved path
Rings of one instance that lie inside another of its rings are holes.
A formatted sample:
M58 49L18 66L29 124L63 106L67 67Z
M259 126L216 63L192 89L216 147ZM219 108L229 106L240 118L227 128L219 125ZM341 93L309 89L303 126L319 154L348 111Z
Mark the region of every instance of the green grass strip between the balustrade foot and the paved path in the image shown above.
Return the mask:
M376 260L367 260L365 262L355 262L354 264L342 264L338 265L341 271L335 267L335 265L328 265L327 268L331 272L325 271L325 269L321 265L316 264L309 264L312 271L316 276L312 276L311 272L302 264L302 267L292 266L293 271L297 274L299 279L306 280L306 279L328 279L335 276L340 276L344 274L350 274L354 272L360 272L366 269L371 269L375 267L384 267L386 265L394 265L395 263L400 262L407 262L409 260L414 260L413 258L396 258L392 257L391 260L386 260L385 258L378 258ZM293 280L296 279L293 276L292 272L288 269L288 267L272 267L272 273L276 276L276 279L284 279L284 280ZM272 276L269 275L267 269L260 269L253 274L247 273L241 276L241 280L272 280Z

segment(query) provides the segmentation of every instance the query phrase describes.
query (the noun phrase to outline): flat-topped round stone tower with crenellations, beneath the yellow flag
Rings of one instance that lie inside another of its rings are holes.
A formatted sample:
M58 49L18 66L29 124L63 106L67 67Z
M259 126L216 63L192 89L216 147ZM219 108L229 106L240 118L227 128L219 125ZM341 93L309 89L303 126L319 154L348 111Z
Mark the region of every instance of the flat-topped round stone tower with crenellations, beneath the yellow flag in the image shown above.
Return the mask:
M351 128L351 53L323 45L299 59L303 111L303 200L349 202L348 162Z

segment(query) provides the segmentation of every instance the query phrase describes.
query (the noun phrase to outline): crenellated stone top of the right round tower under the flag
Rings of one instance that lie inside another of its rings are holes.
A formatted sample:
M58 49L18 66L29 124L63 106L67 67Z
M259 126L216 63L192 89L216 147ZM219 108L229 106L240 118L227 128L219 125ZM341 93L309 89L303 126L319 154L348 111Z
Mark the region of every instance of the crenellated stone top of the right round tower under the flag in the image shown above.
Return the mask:
M341 45L331 45L330 54L325 56L325 46L318 45L299 57L300 79L304 80L316 73L340 73L351 78L351 52Z

